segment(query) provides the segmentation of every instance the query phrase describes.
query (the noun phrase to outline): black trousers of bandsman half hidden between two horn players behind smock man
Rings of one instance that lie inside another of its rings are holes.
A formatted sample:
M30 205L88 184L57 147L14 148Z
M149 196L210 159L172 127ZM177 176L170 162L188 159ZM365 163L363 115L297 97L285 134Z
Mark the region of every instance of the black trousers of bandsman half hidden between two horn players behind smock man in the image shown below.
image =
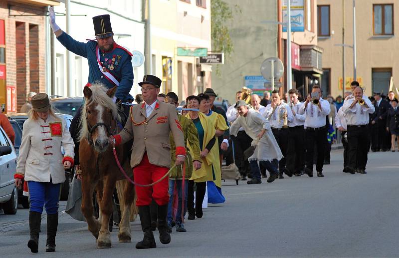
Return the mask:
M299 173L305 168L305 128L303 125L290 127L289 132L286 168Z

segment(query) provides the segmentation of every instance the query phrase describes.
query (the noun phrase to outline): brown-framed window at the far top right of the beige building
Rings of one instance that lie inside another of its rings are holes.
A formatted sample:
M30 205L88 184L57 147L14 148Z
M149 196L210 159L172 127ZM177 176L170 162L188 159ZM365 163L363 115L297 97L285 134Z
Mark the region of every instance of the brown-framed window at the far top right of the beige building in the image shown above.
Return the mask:
M373 4L374 35L394 34L394 5Z

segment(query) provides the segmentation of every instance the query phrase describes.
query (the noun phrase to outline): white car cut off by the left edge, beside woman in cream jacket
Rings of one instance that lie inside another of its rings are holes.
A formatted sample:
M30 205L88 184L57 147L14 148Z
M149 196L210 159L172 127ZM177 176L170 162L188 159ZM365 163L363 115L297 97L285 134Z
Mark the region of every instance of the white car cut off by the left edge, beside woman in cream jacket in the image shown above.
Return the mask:
M18 189L14 184L16 153L8 136L0 127L0 208L4 214L16 214Z

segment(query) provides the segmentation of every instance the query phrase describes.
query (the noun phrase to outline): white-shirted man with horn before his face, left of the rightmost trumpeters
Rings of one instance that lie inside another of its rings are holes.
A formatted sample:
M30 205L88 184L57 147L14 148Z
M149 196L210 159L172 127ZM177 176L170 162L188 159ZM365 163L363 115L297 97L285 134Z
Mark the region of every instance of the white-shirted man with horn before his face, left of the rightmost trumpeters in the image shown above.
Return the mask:
M331 108L330 103L322 98L322 92L319 85L314 85L312 87L312 93L318 95L314 99L319 100L319 103L317 105L313 104L311 95L308 95L304 105L299 109L299 114L305 114L306 168L304 173L309 177L313 177L313 153L316 144L317 176L324 177L324 150L326 148L327 138L326 116L330 113Z

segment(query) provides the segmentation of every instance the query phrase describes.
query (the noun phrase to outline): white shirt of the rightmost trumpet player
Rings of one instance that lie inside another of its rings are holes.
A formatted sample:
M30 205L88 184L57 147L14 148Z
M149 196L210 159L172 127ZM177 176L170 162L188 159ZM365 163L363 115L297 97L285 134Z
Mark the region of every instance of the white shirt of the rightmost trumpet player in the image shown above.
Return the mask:
M359 103L356 103L353 108L350 108L355 98L348 99L342 106L343 112L346 114L348 125L367 125L369 123L369 114L374 113L375 107L368 98L363 98L363 100L369 107L366 107L366 105L361 106Z

